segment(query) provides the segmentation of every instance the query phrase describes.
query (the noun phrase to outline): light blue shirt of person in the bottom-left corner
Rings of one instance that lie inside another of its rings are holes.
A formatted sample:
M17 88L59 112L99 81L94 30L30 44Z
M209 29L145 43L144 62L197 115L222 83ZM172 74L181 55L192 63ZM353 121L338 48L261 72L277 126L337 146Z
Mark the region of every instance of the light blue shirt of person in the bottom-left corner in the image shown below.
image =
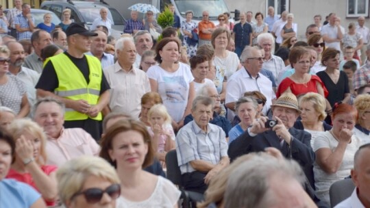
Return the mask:
M31 207L41 197L33 187L15 181L2 179L0 181L0 207Z

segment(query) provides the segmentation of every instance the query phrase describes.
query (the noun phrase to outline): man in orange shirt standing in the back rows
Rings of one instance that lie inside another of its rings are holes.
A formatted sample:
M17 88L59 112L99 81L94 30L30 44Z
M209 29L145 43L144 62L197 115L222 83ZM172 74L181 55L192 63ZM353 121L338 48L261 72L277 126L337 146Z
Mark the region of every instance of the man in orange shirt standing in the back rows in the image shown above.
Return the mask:
M199 28L199 44L198 47L200 47L202 44L211 44L211 37L212 32L214 29L216 29L216 26L214 26L214 23L210 21L210 13L208 11L204 11L202 13L203 18L198 23Z

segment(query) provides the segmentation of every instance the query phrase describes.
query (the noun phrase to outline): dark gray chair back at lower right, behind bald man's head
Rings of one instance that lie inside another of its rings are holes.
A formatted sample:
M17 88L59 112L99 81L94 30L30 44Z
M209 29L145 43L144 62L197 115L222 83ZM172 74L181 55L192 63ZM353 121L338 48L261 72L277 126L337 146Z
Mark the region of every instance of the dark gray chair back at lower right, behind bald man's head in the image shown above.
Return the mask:
M355 189L354 182L352 179L343 179L336 181L330 186L330 206L335 207L338 203L351 196Z

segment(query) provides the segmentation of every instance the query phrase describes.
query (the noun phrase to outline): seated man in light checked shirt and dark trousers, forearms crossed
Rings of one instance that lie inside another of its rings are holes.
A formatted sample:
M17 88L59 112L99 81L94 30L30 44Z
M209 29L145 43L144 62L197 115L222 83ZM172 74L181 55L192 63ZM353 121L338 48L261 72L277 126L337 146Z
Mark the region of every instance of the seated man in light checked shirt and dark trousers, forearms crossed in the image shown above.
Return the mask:
M182 127L176 136L177 161L185 190L204 194L212 177L229 165L225 132L208 123L214 101L197 96L191 114L194 120Z

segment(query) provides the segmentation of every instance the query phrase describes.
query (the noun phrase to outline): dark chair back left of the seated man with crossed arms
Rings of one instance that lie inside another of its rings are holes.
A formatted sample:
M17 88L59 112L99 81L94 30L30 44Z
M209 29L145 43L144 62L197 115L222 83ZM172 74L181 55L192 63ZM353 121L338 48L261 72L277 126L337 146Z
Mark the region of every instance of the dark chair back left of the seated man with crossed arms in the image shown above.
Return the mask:
M182 186L181 171L177 162L176 150L169 151L166 155L167 179L175 185Z

